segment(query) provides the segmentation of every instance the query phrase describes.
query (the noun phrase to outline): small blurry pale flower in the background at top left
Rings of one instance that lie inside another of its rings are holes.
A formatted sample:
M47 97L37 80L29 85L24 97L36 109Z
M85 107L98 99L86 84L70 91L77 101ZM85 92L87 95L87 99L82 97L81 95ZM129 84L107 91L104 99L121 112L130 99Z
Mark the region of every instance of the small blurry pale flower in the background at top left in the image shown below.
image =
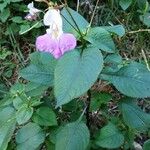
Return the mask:
M25 17L25 19L29 21L36 20L38 13L41 12L41 10L35 8L33 2L28 4L28 9L29 9L29 13Z

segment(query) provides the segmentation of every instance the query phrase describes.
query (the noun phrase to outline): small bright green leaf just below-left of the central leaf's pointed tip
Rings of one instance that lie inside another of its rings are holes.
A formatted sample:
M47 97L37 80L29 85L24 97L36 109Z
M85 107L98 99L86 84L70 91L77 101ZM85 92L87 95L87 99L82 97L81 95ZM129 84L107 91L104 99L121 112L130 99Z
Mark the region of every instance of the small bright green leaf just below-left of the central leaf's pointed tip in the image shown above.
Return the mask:
M56 126L57 119L54 111L49 107L40 107L33 115L33 121L41 126Z

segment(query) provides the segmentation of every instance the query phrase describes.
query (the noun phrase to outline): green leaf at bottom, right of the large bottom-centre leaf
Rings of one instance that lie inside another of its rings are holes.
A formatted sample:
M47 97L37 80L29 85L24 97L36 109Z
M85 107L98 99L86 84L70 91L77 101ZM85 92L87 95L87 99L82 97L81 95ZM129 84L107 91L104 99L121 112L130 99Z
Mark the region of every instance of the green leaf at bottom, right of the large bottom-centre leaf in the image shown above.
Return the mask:
M99 133L96 144L103 148L119 148L124 142L124 136L118 131L112 123L104 126Z

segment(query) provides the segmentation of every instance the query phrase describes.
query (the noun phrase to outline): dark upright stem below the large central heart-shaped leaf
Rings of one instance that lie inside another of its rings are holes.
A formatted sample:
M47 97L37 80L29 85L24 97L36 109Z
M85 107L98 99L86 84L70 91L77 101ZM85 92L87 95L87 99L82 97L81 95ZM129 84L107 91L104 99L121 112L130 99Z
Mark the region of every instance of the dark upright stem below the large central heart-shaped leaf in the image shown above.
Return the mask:
M87 92L87 99L86 99L86 125L90 129L90 104L91 104L91 91L88 90Z

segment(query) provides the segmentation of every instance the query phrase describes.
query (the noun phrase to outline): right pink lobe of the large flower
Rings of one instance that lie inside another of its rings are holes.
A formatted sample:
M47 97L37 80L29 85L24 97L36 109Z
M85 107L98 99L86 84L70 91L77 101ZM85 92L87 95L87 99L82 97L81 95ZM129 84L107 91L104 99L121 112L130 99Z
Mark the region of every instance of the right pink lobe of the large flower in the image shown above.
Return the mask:
M59 48L62 54L74 49L77 45L77 40L73 34L63 33L59 39Z

